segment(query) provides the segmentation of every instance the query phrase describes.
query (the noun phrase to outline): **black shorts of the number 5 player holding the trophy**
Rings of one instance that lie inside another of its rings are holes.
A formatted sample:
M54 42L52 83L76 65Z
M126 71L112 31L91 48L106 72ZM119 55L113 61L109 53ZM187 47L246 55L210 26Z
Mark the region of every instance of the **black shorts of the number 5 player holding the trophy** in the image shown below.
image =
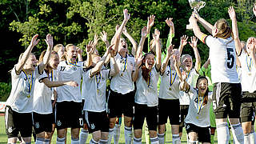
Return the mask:
M240 83L214 83L213 108L215 118L239 118L242 99Z

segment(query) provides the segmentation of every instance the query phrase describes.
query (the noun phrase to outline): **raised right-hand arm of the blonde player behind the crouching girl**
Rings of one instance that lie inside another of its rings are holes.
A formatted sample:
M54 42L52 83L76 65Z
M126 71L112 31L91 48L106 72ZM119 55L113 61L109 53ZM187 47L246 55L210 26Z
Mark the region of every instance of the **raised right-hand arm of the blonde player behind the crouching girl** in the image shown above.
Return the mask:
M200 67L201 67L201 58L200 58L200 54L198 52L198 38L196 37L191 37L191 42L190 43L190 46L193 48L194 50L194 56L195 56L195 70L197 72L199 72L200 70Z

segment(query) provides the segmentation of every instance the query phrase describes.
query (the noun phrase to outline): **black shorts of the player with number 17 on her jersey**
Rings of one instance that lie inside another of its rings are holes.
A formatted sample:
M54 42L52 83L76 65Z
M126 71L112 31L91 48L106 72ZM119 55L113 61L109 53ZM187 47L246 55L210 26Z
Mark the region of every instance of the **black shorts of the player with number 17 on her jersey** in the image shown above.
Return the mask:
M82 102L57 102L56 104L56 128L80 128L82 121Z

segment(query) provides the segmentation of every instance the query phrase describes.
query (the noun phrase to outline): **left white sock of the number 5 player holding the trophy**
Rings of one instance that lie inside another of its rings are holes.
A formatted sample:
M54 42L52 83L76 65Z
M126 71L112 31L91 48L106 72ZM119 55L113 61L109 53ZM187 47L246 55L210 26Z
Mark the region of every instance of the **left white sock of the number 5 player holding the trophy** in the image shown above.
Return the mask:
M217 125L218 143L228 144L230 141L230 132L227 122L219 123Z

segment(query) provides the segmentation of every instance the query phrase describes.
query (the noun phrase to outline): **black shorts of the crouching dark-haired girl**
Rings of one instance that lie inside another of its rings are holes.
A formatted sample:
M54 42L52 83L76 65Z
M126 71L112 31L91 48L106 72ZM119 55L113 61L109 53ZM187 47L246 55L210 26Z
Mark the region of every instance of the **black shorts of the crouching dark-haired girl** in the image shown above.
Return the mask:
M209 127L199 127L192 123L186 123L186 133L195 132L198 134L198 142L210 142L210 126Z

